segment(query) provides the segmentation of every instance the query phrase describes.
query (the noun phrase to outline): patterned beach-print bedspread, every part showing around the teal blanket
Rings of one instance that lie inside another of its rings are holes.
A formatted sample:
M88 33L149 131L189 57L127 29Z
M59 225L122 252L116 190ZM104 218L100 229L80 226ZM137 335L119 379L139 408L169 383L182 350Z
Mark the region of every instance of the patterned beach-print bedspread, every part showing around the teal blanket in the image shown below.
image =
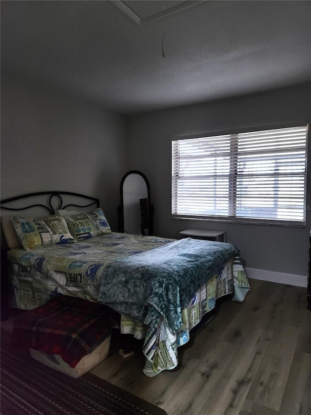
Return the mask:
M112 260L125 258L162 247L174 239L112 233L70 245L9 252L11 270L11 307L31 309L59 294L97 301L101 276ZM86 243L87 242L87 243ZM144 373L155 376L176 366L177 347L189 340L189 331L202 315L212 309L217 298L233 291L242 301L249 289L239 257L229 261L201 287L183 312L183 325L172 333L163 319L150 333L147 326L122 314L121 331L145 338L143 352L147 358Z

